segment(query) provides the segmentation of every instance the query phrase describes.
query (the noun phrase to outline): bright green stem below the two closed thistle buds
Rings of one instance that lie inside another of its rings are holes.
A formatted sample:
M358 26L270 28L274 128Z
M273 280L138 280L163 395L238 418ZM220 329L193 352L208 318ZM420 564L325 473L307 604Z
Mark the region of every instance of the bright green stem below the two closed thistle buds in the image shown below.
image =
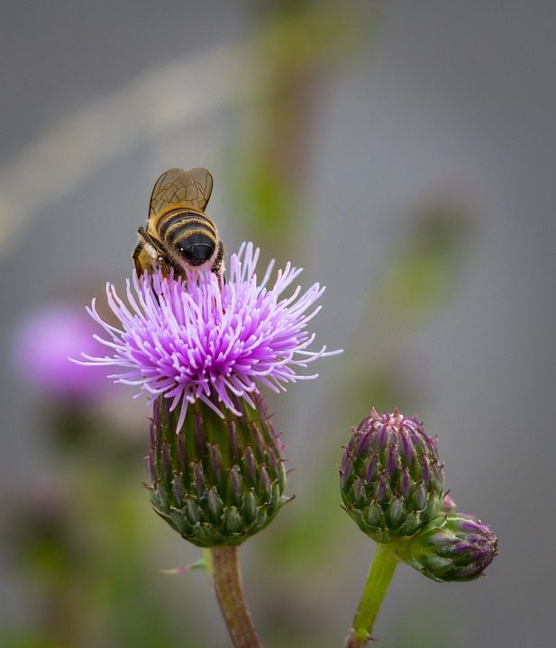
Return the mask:
M397 558L389 545L377 544L375 558L369 569L359 608L353 618L353 627L346 638L345 648L363 648L369 643L370 633L384 599L388 585L396 572Z

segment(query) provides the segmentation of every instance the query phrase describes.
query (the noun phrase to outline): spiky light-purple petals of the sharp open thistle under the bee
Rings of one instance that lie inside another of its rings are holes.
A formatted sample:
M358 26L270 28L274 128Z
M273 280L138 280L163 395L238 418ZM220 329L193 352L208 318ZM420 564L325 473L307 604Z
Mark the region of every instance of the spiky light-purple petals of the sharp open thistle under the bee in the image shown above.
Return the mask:
M95 300L87 311L105 329L106 338L95 338L112 349L112 356L84 353L86 360L78 362L121 367L122 373L108 376L114 383L137 385L150 401L171 399L170 410L181 408L178 430L188 403L203 401L220 416L218 403L223 403L240 416L234 396L254 407L250 394L259 392L260 384L279 392L285 383L316 378L296 370L339 353L309 349L314 334L305 327L321 309L312 307L324 287L314 284L302 293L297 286L279 299L301 269L287 263L267 288L273 262L257 284L258 258L259 248L243 244L232 255L230 279L222 289L214 273L203 269L187 271L187 282L160 272L133 275L132 283L126 282L127 305L107 284L108 304L122 328L102 320Z

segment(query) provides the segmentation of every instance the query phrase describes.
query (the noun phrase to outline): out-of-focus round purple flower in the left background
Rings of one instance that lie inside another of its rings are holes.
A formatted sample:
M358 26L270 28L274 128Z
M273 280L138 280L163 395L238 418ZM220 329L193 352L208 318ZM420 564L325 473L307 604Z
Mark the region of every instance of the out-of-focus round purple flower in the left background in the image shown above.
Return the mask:
M68 305L36 311L15 333L14 365L25 383L59 398L90 398L106 391L105 372L68 361L80 352L94 355L102 347L93 339L87 315Z

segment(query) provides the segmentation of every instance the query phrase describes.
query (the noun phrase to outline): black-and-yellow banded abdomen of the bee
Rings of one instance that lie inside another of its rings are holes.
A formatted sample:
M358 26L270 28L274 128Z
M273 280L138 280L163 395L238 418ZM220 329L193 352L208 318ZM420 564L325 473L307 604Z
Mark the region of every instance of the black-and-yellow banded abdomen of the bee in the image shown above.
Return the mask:
M201 211L167 211L160 216L157 231L169 253L189 266L201 266L214 257L218 244L216 228Z

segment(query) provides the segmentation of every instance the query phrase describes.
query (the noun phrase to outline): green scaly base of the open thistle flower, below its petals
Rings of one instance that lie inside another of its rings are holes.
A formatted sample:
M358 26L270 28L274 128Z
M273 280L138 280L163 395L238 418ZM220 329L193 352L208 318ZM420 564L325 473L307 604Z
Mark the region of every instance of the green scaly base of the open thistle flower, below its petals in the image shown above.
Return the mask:
M241 545L266 527L287 501L282 446L260 395L253 409L224 418L203 401L188 406L176 432L178 412L155 401L147 456L150 500L169 526L194 545Z

